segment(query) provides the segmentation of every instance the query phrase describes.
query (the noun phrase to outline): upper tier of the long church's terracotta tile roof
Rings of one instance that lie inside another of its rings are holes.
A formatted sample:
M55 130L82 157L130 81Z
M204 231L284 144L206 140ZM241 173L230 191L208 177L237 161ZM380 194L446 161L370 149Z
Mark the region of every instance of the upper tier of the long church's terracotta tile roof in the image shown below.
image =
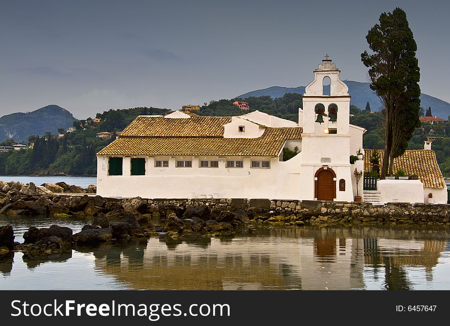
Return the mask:
M121 137L222 137L223 125L230 123L231 117L200 117L176 119L139 116L126 127Z

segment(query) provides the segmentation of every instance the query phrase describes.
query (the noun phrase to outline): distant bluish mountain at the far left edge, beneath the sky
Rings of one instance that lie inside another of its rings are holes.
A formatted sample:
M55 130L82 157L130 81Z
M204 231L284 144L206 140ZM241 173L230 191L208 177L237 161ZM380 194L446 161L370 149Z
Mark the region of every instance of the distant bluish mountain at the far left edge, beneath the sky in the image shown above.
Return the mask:
M0 118L0 142L13 138L16 142L27 142L29 135L44 135L50 131L57 134L58 128L72 127L75 118L71 112L58 105L47 105L27 113L12 113Z

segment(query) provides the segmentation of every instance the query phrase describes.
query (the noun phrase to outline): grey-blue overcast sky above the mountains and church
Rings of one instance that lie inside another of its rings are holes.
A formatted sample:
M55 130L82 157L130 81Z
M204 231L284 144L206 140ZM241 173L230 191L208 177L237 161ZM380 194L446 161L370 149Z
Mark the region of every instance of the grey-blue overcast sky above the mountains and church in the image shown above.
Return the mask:
M396 6L418 45L422 92L450 102L449 3L3 0L0 115L57 104L85 119L305 86L326 53L343 80L366 82L365 37Z

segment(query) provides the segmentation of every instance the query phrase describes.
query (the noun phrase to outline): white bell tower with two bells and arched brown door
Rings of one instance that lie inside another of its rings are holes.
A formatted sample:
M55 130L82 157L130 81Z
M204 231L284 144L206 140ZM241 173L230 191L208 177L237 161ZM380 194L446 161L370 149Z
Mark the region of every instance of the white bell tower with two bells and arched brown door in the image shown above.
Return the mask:
M303 127L300 179L302 188L310 189L310 199L353 200L350 95L340 72L326 55L314 69L314 80L303 95L303 110L299 112L299 125Z

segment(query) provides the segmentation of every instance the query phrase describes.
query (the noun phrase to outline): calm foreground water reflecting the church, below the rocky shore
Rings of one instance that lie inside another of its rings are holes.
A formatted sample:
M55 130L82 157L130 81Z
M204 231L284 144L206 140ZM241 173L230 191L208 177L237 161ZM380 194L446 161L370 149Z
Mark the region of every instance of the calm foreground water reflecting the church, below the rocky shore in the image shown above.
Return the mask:
M81 229L88 218L0 216L16 241L30 225ZM450 229L295 228L258 235L79 248L0 260L0 289L450 289Z

